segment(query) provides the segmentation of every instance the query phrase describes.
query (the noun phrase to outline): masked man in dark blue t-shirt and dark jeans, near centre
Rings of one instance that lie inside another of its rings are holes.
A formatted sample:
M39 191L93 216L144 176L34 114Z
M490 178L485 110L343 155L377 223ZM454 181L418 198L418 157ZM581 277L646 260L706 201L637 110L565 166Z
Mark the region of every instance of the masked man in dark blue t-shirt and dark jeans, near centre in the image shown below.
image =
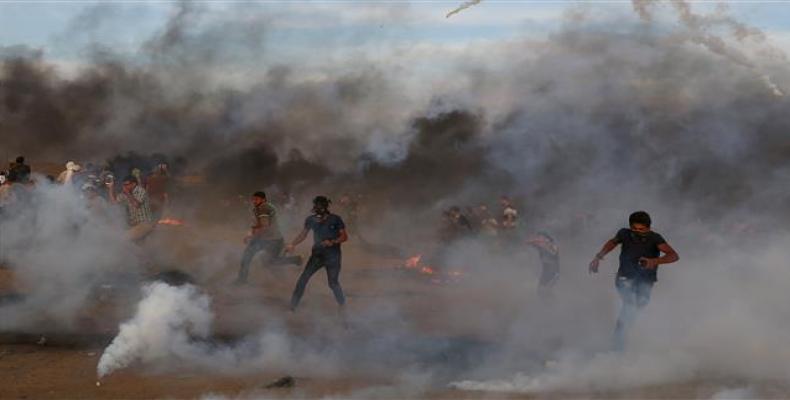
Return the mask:
M313 231L313 250L302 275L299 276L299 280L296 282L293 296L291 296L292 311L296 311L310 277L322 267L326 268L329 288L332 289L341 312L346 303L339 278L340 244L348 240L348 233L346 233L346 225L343 223L343 219L329 212L329 203L329 199L324 196L317 196L313 199L313 215L307 217L304 221L304 229L286 247L286 252L293 252L294 248L307 238L307 234L311 230Z

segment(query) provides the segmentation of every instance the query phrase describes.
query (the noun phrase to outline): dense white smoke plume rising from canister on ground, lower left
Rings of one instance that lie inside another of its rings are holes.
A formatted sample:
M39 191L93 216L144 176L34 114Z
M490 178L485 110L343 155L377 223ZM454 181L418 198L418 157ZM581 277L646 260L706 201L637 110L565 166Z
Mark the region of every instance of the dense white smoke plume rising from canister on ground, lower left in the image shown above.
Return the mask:
M208 358L205 347L195 341L208 338L212 321L211 300L197 287L148 284L134 317L121 324L104 350L97 375L102 378L135 361L189 361L196 354Z

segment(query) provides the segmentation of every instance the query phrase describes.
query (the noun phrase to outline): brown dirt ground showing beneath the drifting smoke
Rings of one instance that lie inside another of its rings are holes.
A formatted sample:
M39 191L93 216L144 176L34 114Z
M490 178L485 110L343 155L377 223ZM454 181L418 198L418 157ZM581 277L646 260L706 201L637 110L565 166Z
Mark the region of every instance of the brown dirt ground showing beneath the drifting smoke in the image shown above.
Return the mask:
M213 300L217 315L218 336L238 337L255 332L266 323L266 315L282 315L288 330L294 334L312 329L311 319L331 313L334 299L326 286L323 272L308 287L302 309L287 312L287 301L300 268L276 270L253 268L247 286L231 285L238 259L222 261L221 268L201 267L200 248L214 238L223 238L238 253L243 232L229 228L195 226L160 227L152 241L171 249L171 260L179 269L195 276ZM307 245L302 246L305 254ZM463 318L446 318L443 310L470 296L463 286L436 284L431 277L399 271L399 258L386 258L362 251L353 242L344 249L344 270L341 282L348 296L348 312L353 316L362 306L377 299L399 304L403 314L426 335L474 337L495 341L495 326L480 326ZM0 268L0 294L24 293L12 270ZM127 304L123 304L126 301ZM507 299L491 299L488 307L500 317L512 313L518 304ZM456 391L444 386L428 387L418 393L395 388L386 376L356 374L340 377L311 375L309 371L295 374L291 388L266 389L265 385L285 375L282 371L252 371L249 374L222 375L191 370L152 371L134 365L106 377L96 385L96 365L104 346L117 332L118 323L133 312L134 301L114 299L112 310L98 301L82 318L81 328L71 332L41 328L26 332L0 333L0 398L62 399L62 398L537 398L536 395L497 394ZM118 305L121 304L119 307ZM250 307L255 307L250 310ZM120 311L118 311L120 310ZM258 315L259 319L250 318ZM353 320L353 319L352 319ZM353 327L352 327L353 330ZM354 334L354 333L349 333ZM44 340L42 340L42 338ZM710 398L722 387L741 382L696 380L693 382L644 387L622 392L548 393L540 398ZM781 383L766 383L759 388L760 397L788 398L790 391Z

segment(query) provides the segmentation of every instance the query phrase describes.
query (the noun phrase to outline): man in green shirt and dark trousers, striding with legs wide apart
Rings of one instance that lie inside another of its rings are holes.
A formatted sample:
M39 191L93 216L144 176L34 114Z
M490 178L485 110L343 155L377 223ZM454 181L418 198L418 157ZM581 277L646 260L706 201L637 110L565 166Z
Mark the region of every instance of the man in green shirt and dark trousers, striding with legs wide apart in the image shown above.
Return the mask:
M241 258L239 277L234 282L241 285L247 282L250 263L253 257L261 251L266 253L266 263L271 265L301 264L300 257L281 257L283 250L283 235L277 225L277 209L266 200L266 193L255 192L252 194L253 224L250 233L244 238L247 247Z

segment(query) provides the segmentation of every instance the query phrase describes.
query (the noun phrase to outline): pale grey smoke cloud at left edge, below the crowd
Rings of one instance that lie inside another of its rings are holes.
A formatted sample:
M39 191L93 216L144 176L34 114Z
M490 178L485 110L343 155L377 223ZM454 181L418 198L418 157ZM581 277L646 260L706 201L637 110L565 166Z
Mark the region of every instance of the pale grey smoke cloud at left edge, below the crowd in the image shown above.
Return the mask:
M114 207L87 202L72 187L38 177L3 207L0 248L25 292L3 307L2 329L78 329L78 317L108 276L136 276L136 249L124 235ZM112 280L112 279L111 279ZM131 283L131 282L130 282Z

